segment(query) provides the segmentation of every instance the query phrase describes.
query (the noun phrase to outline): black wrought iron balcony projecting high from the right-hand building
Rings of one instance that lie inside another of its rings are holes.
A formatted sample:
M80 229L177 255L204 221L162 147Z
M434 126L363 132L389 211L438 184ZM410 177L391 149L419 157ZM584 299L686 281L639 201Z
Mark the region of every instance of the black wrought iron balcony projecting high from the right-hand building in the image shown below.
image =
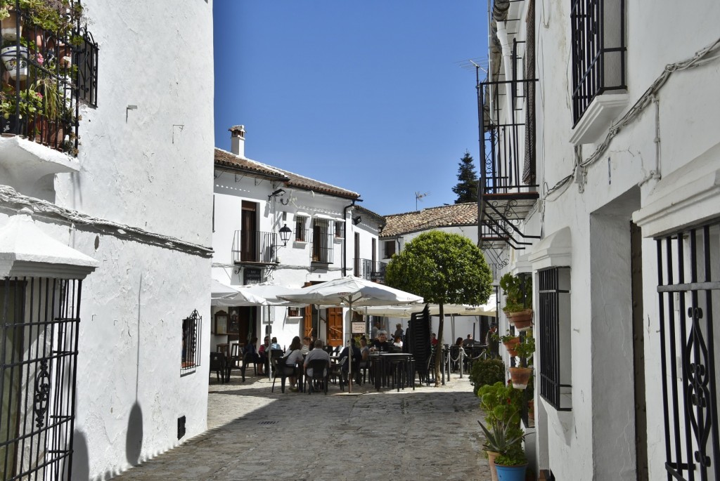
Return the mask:
M523 249L521 231L539 195L535 183L535 119L524 108L536 80L482 82L478 106L482 112L479 224L480 248Z

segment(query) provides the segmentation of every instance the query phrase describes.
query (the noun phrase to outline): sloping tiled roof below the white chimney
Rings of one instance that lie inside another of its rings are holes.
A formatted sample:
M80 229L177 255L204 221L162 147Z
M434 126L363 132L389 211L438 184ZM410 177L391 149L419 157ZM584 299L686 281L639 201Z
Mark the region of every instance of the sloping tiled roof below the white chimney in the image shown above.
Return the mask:
M349 199L360 197L359 193L320 182L320 180L311 179L300 174L292 173L288 170L271 167L270 165L257 162L256 160L238 157L238 155L218 148L215 148L215 166L232 168L233 170L239 170L240 172L246 173L246 175L252 175L258 178L281 180L284 182L286 187L300 188L305 191L325 193L330 196Z

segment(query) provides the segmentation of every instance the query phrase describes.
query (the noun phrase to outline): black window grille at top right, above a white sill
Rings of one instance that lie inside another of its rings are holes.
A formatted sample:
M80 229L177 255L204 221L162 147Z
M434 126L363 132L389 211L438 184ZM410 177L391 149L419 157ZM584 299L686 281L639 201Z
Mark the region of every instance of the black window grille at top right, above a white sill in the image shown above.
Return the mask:
M624 91L625 0L572 0L572 115L577 124L595 96Z

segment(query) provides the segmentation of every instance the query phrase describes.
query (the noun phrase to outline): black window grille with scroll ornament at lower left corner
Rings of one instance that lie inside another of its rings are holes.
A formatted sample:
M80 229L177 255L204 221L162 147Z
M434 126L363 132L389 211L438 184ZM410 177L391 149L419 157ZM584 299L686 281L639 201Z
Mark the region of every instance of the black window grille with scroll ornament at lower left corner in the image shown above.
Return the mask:
M81 281L0 280L0 479L72 479Z

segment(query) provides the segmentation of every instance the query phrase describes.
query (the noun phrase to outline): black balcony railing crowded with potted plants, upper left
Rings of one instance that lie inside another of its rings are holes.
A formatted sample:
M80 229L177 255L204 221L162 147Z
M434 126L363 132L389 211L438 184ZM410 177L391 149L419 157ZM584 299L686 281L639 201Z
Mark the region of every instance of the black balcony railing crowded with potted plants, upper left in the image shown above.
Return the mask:
M0 132L76 155L78 100L97 97L98 49L80 2L15 0L0 17Z

